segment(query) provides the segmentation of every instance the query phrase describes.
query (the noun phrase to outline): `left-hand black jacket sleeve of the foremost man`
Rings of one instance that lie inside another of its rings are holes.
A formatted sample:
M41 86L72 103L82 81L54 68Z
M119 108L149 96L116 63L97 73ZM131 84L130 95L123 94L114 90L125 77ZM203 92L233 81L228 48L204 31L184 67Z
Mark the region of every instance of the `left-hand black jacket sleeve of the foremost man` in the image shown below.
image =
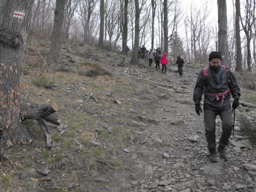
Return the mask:
M197 77L196 86L194 89L193 100L195 101L196 104L201 102L203 92L204 92L204 75L203 75L203 70L201 70Z

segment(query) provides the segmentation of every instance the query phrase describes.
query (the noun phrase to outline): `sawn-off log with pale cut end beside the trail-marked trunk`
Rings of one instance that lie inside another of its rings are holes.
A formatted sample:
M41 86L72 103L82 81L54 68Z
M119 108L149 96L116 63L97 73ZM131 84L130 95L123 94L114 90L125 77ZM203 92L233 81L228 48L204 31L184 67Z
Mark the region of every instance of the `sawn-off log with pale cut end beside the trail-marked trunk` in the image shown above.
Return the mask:
M21 118L21 121L25 121L27 119L40 119L40 118L47 117L58 110L59 109L56 103L53 103L52 105L44 104L36 108L21 111L20 118Z

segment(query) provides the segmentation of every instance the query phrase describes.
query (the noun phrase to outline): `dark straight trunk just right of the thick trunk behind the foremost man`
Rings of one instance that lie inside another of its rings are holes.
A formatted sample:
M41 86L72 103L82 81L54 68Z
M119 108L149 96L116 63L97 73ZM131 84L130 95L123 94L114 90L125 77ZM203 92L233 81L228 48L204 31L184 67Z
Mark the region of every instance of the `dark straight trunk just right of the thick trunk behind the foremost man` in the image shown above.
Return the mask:
M242 48L241 48L241 37L240 37L240 0L236 0L236 71L242 72Z

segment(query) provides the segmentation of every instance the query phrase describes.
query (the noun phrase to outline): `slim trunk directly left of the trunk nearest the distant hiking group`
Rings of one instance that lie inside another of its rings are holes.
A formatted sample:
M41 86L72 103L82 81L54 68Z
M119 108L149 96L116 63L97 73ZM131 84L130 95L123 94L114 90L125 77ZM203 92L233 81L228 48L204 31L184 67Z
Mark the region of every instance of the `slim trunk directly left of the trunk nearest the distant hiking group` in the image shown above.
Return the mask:
M128 3L129 0L124 1L124 25L122 34L122 54L126 55L126 45L128 37Z

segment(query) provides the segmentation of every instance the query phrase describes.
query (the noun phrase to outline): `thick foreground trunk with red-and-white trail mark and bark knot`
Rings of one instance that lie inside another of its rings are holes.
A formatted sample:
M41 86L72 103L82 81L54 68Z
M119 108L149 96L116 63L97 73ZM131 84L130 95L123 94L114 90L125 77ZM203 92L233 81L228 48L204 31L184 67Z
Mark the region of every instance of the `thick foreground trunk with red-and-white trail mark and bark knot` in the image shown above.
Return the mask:
M23 56L33 0L2 0L0 12L0 160L19 122Z

